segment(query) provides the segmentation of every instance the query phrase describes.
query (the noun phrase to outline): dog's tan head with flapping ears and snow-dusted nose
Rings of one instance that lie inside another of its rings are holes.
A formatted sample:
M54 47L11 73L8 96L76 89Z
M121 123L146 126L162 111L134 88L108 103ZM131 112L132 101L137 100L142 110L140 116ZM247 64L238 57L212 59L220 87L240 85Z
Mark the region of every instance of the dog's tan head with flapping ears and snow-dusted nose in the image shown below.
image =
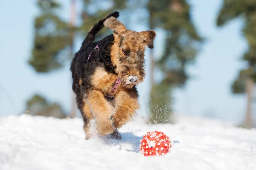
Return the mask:
M110 17L104 26L113 30L115 37L111 50L111 60L116 73L126 88L143 82L145 77L145 47L154 48L155 31L131 31L115 17Z

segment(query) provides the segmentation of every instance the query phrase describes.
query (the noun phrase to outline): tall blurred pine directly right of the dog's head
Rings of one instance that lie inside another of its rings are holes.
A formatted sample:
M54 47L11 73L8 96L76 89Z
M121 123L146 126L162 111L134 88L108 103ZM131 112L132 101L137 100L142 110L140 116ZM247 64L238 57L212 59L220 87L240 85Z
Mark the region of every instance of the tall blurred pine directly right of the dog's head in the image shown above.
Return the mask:
M151 51L151 117L149 123L172 123L171 92L181 87L189 78L186 66L199 50L202 38L198 35L190 17L186 0L148 0L150 29L165 31L164 53L154 62ZM162 72L162 80L154 83L154 68Z

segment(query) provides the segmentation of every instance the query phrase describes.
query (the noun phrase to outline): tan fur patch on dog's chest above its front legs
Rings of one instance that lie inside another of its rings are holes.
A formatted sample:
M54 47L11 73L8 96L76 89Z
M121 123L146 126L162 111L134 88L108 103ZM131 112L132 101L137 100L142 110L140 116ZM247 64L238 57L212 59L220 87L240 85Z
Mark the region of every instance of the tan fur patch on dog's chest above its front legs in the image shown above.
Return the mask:
M91 83L95 89L102 91L103 94L111 94L117 79L116 74L108 73L105 68L98 67L91 78Z

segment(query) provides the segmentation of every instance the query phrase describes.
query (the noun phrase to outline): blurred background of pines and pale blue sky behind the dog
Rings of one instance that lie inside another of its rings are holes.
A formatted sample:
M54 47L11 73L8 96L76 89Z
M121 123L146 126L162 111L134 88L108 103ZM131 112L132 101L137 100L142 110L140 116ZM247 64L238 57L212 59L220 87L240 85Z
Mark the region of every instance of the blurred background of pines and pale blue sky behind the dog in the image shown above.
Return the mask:
M254 0L32 0L14 9L21 14L1 16L0 116L79 117L71 59L90 27L117 10L128 29L157 32L138 86L139 116L149 124L185 114L256 126ZM104 28L96 40L108 34Z

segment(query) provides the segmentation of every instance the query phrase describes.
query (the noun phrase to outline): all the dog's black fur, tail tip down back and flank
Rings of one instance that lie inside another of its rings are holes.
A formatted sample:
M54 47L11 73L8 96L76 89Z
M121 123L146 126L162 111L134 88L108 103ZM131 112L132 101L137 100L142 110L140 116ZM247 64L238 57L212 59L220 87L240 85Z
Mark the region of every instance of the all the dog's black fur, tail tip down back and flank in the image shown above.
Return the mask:
M98 66L102 66L109 73L114 73L115 67L111 62L110 48L113 45L113 34L105 37L104 39L93 42L95 40L96 34L104 27L103 23L108 17L119 17L119 12L113 12L109 14L104 19L100 20L98 23L94 24L91 30L88 32L87 37L82 42L80 50L75 54L70 71L72 72L73 84L72 89L76 94L76 104L80 112L83 113L83 99L86 98L86 92L92 86L90 83L90 77L95 72ZM98 45L98 49L93 49ZM87 59L91 53L91 56L87 62ZM82 84L79 85L79 80L81 79ZM82 114L83 116L83 114ZM83 116L84 123L88 123L88 119Z

